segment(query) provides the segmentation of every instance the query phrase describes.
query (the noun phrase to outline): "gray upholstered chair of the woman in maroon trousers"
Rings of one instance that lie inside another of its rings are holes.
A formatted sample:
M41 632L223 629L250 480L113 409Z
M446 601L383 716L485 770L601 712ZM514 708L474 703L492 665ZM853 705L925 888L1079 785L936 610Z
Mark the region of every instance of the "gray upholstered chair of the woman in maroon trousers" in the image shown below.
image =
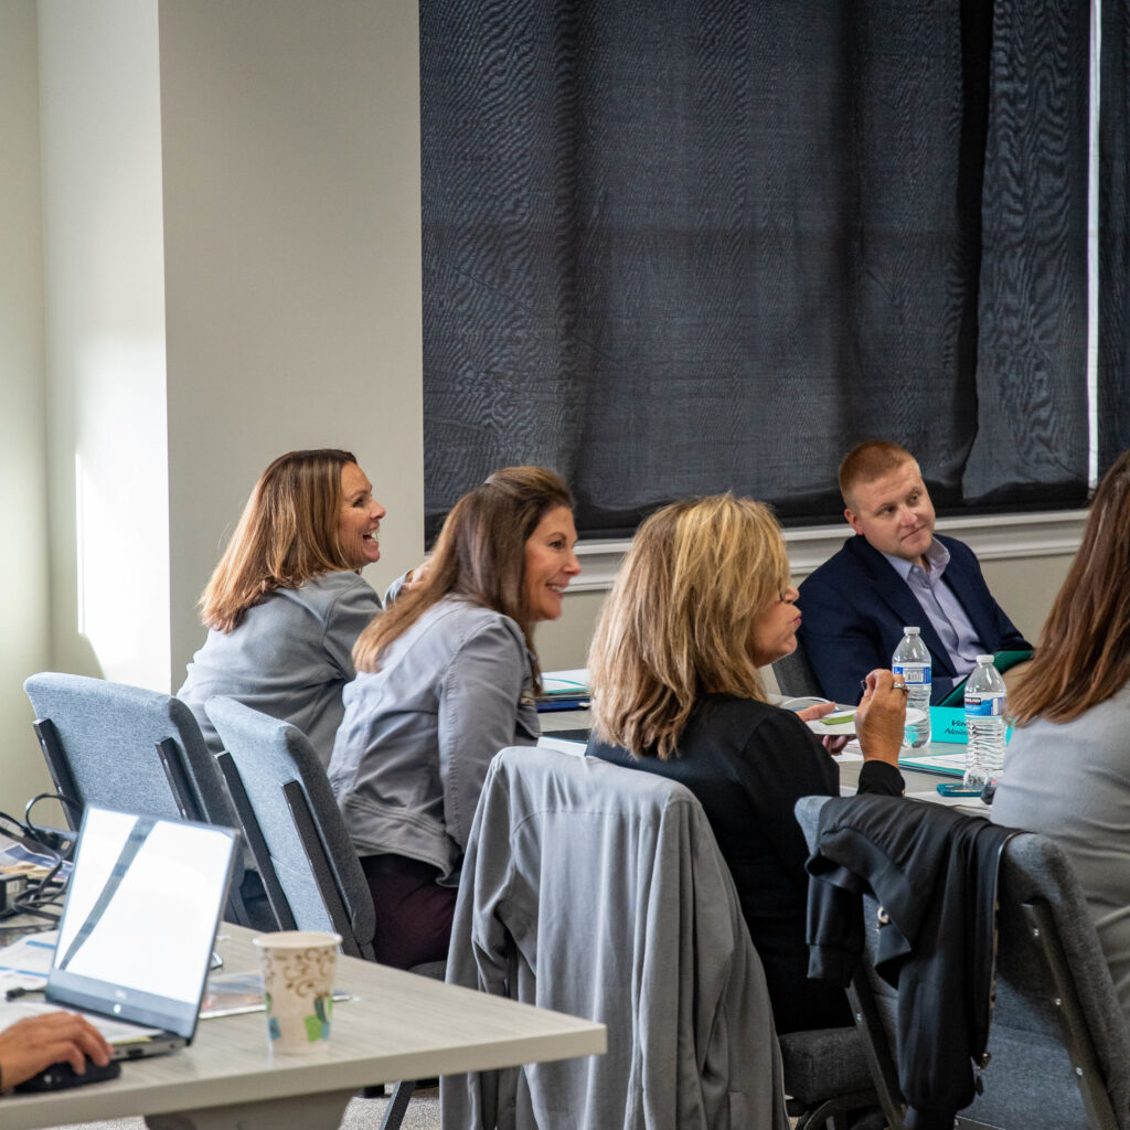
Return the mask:
M342 953L372 960L373 898L306 736L224 695L205 710L224 742L217 760L281 929L332 930L341 935ZM444 963L411 972L442 980ZM415 1087L410 1079L395 1085L382 1130L400 1125ZM383 1088L364 1094L380 1097Z

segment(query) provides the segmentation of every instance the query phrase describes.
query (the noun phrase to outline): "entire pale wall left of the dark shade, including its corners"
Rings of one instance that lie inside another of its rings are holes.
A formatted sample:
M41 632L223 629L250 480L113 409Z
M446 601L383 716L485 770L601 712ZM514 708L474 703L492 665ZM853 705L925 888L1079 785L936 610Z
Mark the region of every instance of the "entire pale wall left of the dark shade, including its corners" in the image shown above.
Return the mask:
M418 560L418 24L415 0L0 14L17 807L46 784L23 679L179 685L197 596L275 455L351 447L390 512L370 580Z

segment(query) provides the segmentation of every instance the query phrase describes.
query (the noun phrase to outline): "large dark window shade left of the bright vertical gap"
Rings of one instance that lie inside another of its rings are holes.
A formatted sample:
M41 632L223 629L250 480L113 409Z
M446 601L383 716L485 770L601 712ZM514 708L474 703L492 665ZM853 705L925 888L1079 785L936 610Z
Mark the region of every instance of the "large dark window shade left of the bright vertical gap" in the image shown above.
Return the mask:
M838 515L1086 494L1080 0L423 0L429 532L537 462L582 534L733 489Z

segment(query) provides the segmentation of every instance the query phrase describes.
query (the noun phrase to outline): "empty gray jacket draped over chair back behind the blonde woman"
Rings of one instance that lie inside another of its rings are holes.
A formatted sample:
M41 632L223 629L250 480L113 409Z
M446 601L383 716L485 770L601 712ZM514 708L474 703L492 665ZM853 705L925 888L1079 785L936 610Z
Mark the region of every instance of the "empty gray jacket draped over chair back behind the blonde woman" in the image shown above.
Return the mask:
M447 980L608 1026L603 1055L444 1076L444 1130L785 1130L760 962L702 806L592 757L505 749Z

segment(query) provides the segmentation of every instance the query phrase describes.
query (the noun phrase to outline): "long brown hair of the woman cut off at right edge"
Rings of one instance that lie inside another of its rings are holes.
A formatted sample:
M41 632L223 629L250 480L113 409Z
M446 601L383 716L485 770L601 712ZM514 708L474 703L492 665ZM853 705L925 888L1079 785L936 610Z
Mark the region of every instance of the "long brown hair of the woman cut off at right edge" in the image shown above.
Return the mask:
M1130 683L1130 451L1095 490L1079 551L1028 668L1008 695L1020 725L1069 722Z

